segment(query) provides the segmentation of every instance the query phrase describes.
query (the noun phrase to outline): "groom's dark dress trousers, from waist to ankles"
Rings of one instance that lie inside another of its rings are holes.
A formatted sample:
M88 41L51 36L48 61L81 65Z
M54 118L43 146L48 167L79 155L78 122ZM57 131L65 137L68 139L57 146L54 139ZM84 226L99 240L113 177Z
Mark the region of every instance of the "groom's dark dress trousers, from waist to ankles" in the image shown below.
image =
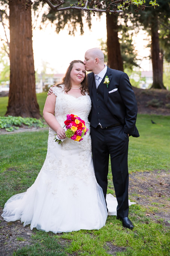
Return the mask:
M128 134L124 133L123 126L120 125L107 129L90 126L90 135L96 180L106 198L110 155L113 185L118 203L117 216L127 217L129 212Z

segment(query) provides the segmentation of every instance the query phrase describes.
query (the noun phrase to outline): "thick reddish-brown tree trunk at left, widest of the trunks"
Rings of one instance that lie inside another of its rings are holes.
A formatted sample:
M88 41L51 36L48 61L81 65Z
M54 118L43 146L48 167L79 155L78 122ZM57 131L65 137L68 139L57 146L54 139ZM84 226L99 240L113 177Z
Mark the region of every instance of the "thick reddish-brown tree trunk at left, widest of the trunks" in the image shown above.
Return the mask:
M31 7L26 0L9 1L10 87L6 116L40 118L35 91Z

